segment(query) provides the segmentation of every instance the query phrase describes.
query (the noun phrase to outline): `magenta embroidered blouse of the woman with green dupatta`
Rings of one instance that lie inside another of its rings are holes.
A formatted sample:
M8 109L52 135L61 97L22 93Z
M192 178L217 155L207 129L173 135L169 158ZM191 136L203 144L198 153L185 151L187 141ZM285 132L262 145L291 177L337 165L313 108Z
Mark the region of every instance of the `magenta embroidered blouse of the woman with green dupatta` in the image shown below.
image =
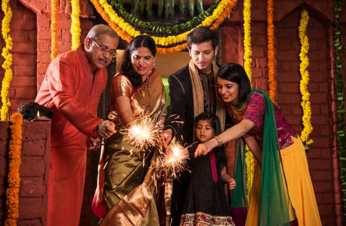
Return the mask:
M248 133L245 134L243 137L254 135L261 146L263 143L264 115L266 107L267 102L265 98L259 92L254 92L248 99L248 106L246 107L243 117L243 120L247 119L255 123L255 126L252 129L250 129ZM235 124L240 123L240 121L237 120L235 115L233 114L231 106L229 104L226 105L226 110ZM277 135L281 150L293 144L294 142L291 136L298 137L298 133L285 119L283 112L275 103L274 111Z

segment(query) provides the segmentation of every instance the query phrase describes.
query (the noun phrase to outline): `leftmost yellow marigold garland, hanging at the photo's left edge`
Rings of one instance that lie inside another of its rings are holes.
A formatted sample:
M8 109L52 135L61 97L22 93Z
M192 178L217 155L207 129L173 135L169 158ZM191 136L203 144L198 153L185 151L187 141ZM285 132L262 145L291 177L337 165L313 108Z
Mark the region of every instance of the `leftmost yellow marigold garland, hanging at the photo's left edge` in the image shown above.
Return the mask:
M11 102L8 97L9 87L12 81L13 71L11 69L12 65L12 54L9 52L12 49L12 37L10 36L9 24L12 19L12 9L9 5L9 0L2 0L1 9L4 12L4 17L1 22L1 33L5 40L5 47L2 48L1 56L4 58L4 62L1 65L5 69L5 74L3 76L1 84L1 102L2 106L0 109L1 121L8 120L8 107L11 106Z

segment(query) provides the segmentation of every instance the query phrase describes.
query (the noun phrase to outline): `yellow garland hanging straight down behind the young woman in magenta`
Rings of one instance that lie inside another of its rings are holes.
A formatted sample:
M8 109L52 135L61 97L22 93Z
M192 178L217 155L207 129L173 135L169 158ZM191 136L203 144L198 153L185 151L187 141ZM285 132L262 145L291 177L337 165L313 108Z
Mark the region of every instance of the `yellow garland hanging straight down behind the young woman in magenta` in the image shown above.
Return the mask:
M244 69L249 77L250 84L252 86L252 71L251 71L251 0L244 0ZM245 161L247 165L246 176L247 176L247 188L248 191L251 191L252 181L255 173L255 159L251 153L248 146L246 146ZM250 199L250 192L247 195L248 200Z

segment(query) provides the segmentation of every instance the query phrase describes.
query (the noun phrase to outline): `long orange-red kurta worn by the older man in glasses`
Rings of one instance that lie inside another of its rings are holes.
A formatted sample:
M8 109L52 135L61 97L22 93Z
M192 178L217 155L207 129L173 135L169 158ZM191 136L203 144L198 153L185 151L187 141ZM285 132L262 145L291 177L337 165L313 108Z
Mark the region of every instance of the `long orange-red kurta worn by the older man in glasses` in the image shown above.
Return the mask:
M106 69L92 80L81 44L48 66L36 102L54 112L51 122L48 226L78 226L87 160L87 137L102 121L96 111L107 83ZM96 133L97 134L97 133Z

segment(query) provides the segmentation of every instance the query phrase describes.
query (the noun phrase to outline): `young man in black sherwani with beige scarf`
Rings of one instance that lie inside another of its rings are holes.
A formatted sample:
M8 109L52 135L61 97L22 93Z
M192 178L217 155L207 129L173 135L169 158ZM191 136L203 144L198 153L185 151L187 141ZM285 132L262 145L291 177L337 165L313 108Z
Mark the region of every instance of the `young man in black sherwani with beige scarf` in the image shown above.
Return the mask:
M225 107L216 89L218 65L217 36L208 27L198 27L187 35L186 42L191 56L190 63L168 78L171 104L162 132L162 145L167 148L173 137L177 141L194 142L194 117L202 112L215 113L225 125ZM185 171L173 180L172 203L166 203L167 225L179 225L189 186L190 174ZM166 182L168 183L168 182ZM166 186L168 188L170 186ZM166 191L166 194L169 194ZM169 219L171 213L172 220Z

